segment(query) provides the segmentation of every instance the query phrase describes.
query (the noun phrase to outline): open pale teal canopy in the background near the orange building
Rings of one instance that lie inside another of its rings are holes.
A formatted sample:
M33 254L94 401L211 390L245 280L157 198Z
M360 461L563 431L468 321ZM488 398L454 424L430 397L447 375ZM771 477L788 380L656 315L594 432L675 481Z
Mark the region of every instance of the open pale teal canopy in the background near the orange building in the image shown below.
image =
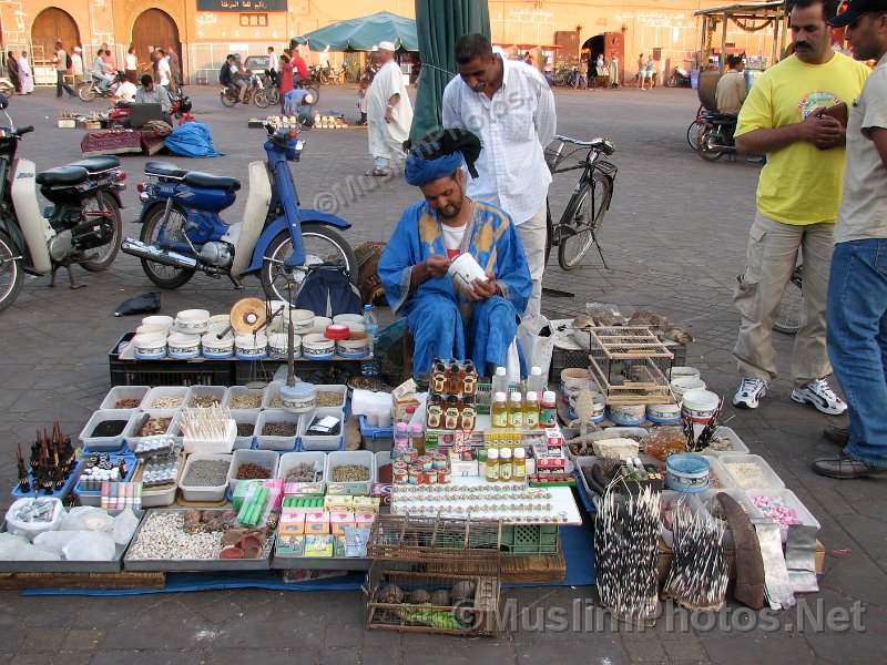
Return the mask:
M312 51L371 51L380 41L389 41L398 51L418 51L416 21L387 11L339 21L326 28L307 32L298 38Z

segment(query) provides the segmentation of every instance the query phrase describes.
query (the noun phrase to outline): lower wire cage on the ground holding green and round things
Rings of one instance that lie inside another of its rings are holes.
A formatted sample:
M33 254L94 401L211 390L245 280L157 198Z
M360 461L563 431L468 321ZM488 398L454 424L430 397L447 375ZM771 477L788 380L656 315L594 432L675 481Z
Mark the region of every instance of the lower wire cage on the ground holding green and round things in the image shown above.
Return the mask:
M436 573L421 564L375 562L364 589L367 627L414 633L499 634L499 575Z

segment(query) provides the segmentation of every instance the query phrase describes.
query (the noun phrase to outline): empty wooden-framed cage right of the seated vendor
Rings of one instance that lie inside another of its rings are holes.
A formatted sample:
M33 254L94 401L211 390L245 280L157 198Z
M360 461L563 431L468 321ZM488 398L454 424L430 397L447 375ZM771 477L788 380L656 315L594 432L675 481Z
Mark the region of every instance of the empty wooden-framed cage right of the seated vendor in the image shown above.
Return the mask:
M646 326L589 328L589 369L609 405L673 401L674 356Z

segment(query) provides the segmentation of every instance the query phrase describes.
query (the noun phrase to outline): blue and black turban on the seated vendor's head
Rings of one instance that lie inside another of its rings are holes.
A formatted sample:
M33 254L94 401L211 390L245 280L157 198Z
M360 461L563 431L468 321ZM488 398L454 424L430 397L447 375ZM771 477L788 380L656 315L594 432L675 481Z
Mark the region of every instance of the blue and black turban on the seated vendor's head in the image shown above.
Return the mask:
M477 177L475 162L478 155L480 139L475 134L467 130L443 130L437 135L429 134L410 151L404 176L410 185L418 187L452 175L466 161L469 173Z

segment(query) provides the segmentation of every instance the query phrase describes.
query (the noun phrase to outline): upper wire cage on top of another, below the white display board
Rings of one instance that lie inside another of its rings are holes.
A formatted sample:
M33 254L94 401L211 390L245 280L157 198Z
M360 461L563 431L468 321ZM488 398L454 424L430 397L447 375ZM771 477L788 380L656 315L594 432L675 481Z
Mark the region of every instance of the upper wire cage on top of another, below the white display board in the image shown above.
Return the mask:
M379 515L369 534L367 556L426 563L459 561L461 572L498 574L500 545L498 521Z

